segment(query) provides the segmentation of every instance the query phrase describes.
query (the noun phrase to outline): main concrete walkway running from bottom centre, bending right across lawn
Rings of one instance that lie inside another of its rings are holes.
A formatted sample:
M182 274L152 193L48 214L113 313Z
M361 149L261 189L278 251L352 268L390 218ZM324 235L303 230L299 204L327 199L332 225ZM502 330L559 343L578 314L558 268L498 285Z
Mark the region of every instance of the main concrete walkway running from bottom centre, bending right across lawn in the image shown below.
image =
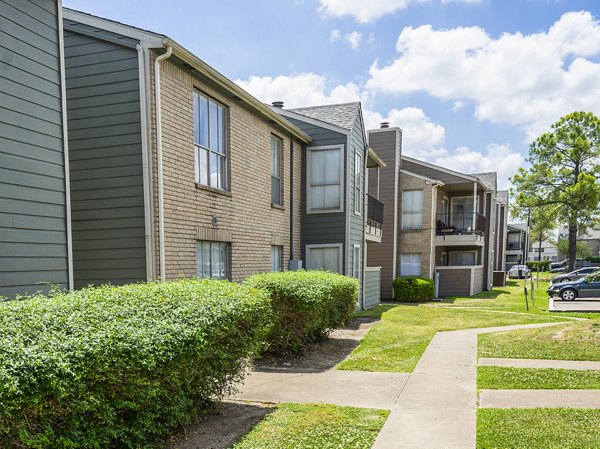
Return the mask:
M477 335L556 324L438 332L410 375L373 449L474 449Z

